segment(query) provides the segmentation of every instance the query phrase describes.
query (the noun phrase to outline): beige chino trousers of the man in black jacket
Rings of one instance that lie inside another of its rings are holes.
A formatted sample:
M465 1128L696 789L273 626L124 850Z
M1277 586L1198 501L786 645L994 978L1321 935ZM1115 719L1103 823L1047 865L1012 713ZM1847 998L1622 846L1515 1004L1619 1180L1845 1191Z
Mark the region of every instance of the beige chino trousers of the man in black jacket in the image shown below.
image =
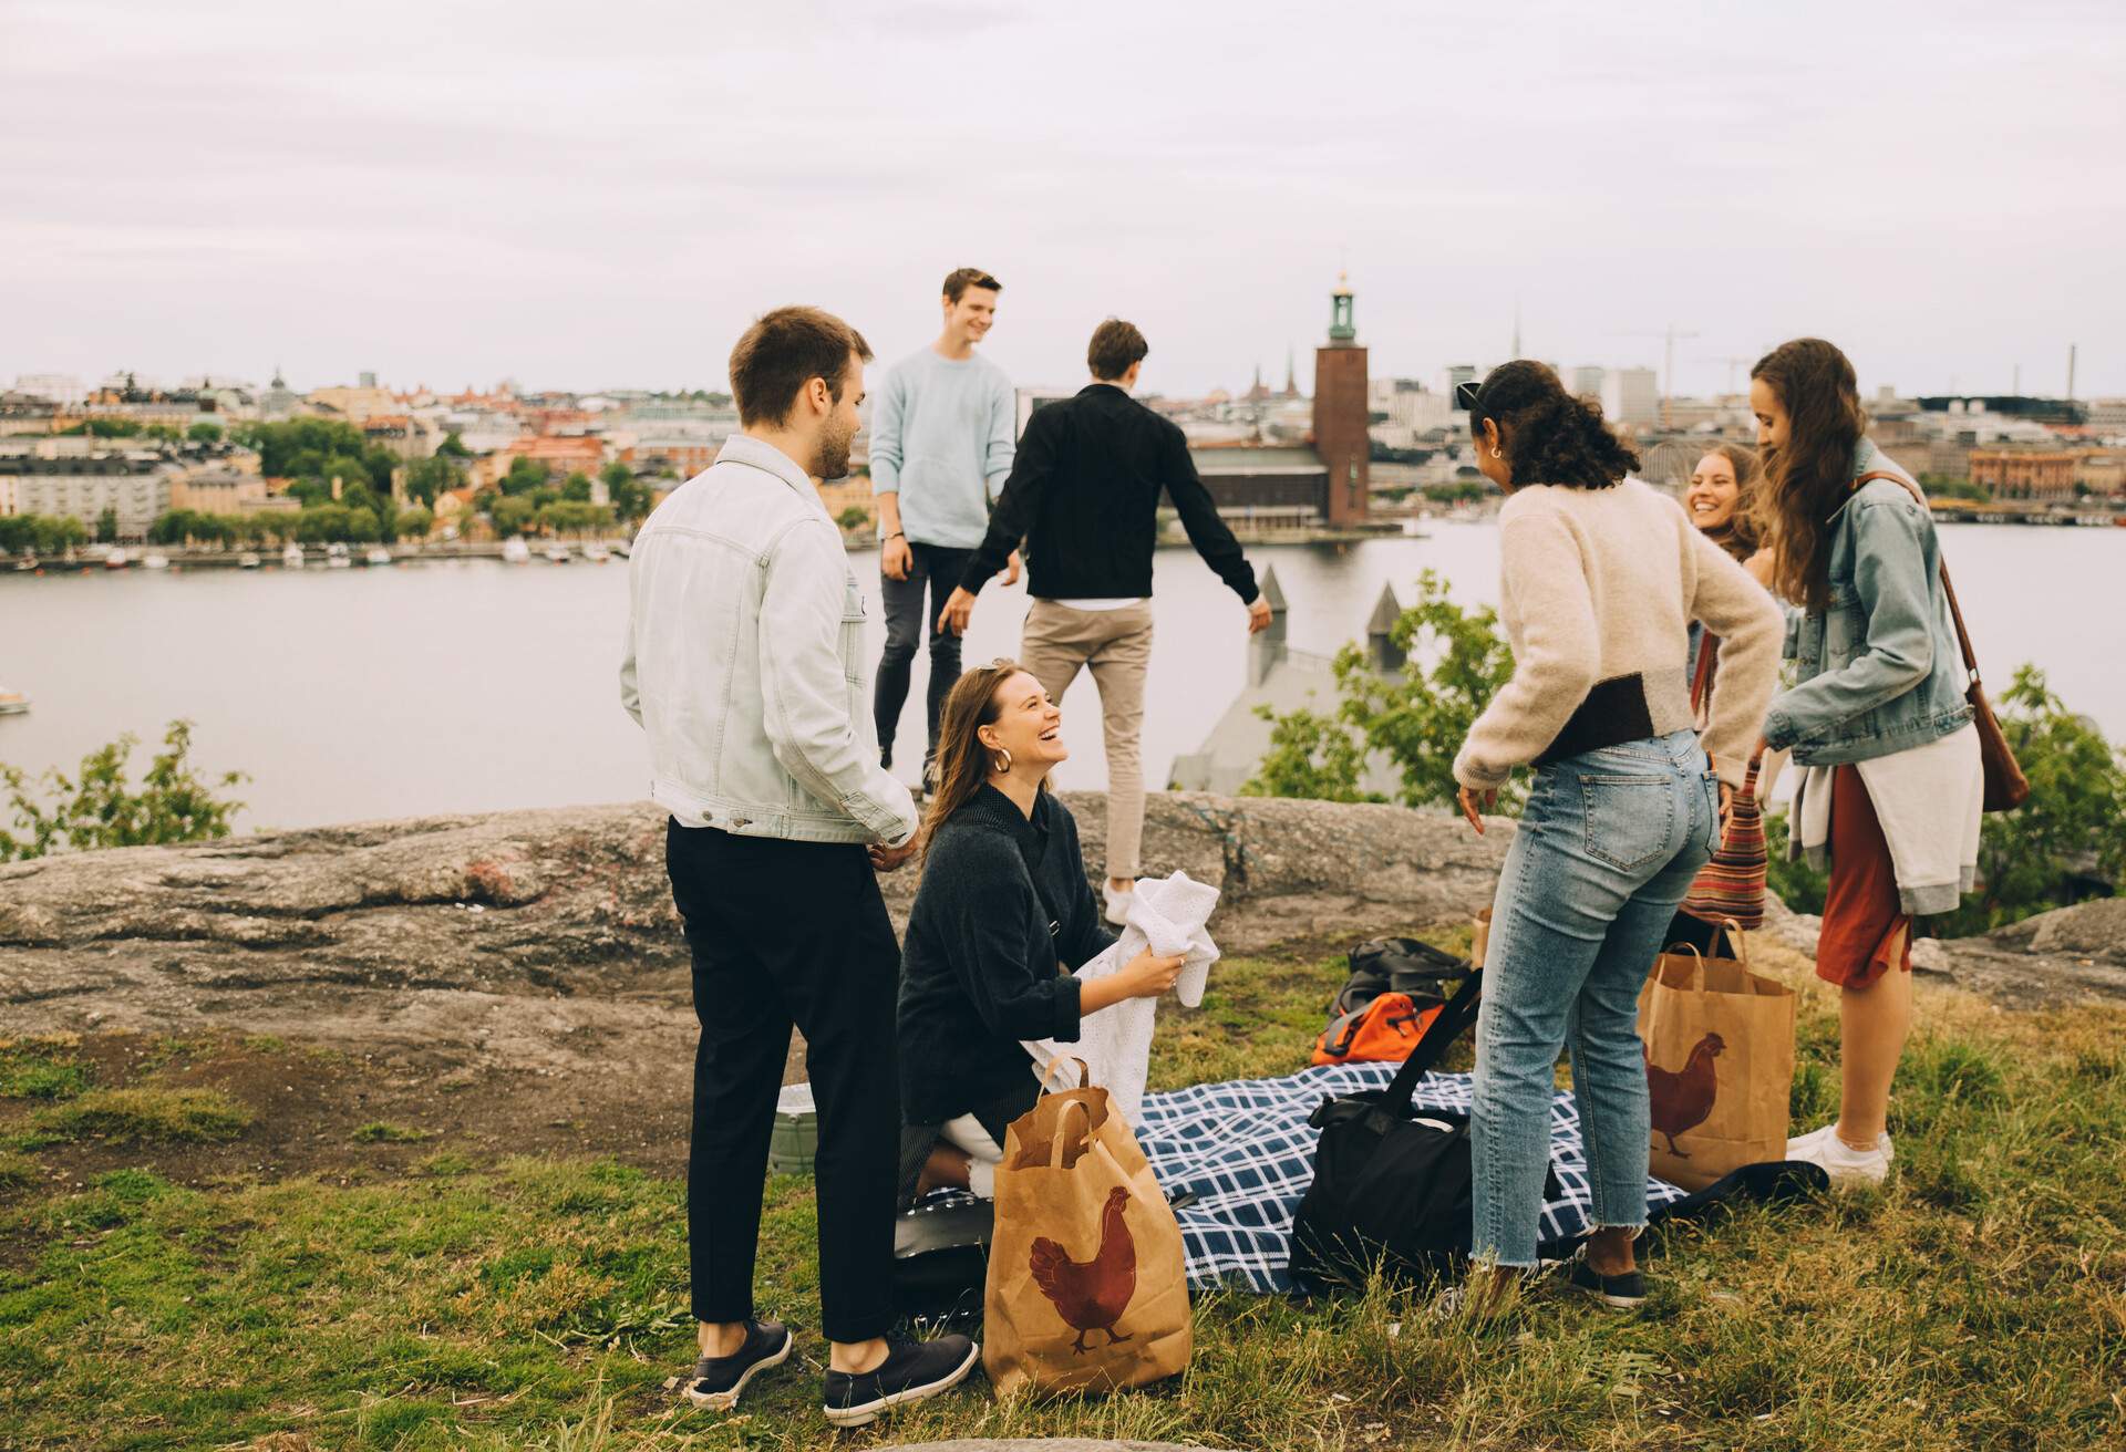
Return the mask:
M1144 676L1152 665L1152 602L1072 610L1035 600L1018 634L1018 663L1059 706L1078 670L1093 672L1108 738L1108 876L1135 878L1144 846Z

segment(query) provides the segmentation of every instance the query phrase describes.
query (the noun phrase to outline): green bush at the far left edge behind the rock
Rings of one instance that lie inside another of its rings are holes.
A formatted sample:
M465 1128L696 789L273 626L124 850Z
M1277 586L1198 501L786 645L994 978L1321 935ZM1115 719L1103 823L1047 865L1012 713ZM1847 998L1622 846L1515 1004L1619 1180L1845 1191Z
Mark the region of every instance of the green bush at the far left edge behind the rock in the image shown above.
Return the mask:
M125 767L140 742L128 733L83 757L74 776L57 767L45 772L36 780L45 801L32 795L26 772L0 763L0 784L9 791L15 827L0 829L0 861L230 835L230 818L242 810L242 801L219 793L247 780L244 774L202 778L189 759L189 721L172 721L162 742L164 750L149 763L138 789L128 782Z

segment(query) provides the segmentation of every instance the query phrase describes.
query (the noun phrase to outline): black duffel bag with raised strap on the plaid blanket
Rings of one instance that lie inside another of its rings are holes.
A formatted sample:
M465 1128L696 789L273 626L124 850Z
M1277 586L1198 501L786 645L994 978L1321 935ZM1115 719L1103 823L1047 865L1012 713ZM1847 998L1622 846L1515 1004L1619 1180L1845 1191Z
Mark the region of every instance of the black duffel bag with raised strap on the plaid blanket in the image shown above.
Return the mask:
M1469 974L1386 1088L1322 1099L1314 1184L1293 1216L1293 1280L1361 1286L1373 1267L1437 1278L1469 1256L1469 1116L1412 1103L1418 1080L1475 1023Z

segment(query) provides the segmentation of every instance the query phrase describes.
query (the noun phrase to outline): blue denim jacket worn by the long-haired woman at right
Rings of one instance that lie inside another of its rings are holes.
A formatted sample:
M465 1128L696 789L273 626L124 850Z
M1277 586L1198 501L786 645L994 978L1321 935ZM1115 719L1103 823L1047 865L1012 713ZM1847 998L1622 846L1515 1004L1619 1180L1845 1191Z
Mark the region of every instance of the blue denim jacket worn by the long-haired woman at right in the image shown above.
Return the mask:
M1905 472L1862 438L1854 478L1871 470ZM1784 655L1799 685L1765 712L1765 744L1792 746L1796 765L1873 761L1971 721L1933 514L1875 478L1835 521L1828 608L1788 610Z

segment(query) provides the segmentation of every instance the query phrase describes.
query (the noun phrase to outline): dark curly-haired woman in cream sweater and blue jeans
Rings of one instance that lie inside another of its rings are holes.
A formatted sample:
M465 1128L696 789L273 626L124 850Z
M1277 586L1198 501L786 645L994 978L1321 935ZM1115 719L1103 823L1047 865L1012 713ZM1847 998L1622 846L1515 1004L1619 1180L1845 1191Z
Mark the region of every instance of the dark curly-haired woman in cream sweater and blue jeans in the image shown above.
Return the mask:
M1514 646L1514 678L1454 759L1463 814L1484 831L1480 808L1516 767L1535 770L1499 874L1475 1027L1471 1239L1492 1267L1478 1288L1495 1295L1535 1265L1550 1095L1569 1046L1594 1197L1571 1284L1637 1305L1639 989L1741 784L1779 665L1779 610L1673 497L1626 478L1637 457L1550 368L1505 364L1463 402L1478 468L1507 495L1501 617ZM1703 746L1692 621L1726 655Z

